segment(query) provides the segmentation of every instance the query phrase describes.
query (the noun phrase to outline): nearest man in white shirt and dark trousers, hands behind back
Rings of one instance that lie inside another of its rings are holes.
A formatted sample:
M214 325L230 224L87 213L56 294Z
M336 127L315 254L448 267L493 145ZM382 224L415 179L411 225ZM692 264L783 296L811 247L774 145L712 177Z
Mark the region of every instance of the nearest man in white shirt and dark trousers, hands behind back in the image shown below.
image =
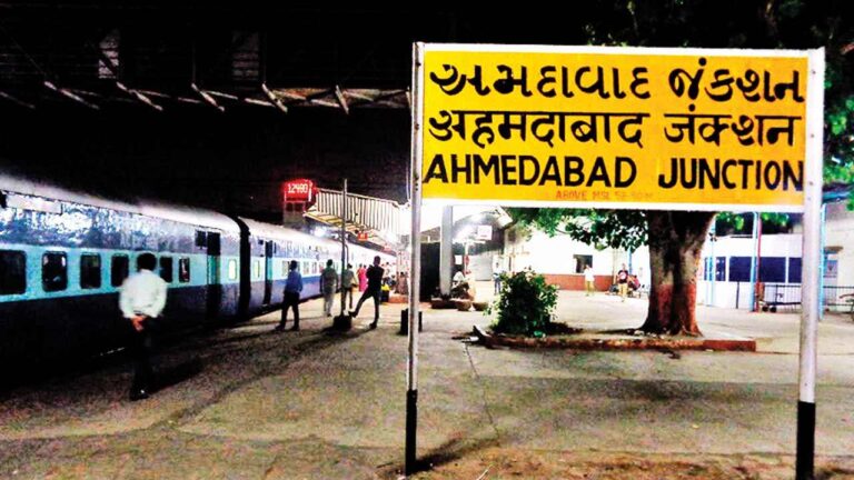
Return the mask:
M151 329L152 322L166 307L167 290L163 279L153 272L156 267L157 258L151 253L142 253L137 258L139 271L127 278L119 291L121 314L133 327L130 343L135 363L131 400L148 398L151 387Z

